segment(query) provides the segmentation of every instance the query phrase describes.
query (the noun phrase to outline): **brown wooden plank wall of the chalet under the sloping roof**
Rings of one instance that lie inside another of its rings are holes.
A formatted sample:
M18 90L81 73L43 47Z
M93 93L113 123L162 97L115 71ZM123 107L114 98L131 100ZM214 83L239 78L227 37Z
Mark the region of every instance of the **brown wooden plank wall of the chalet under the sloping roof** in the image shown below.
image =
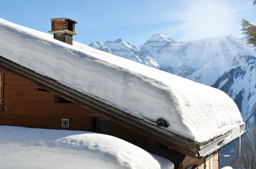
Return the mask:
M35 86L9 72L3 73L3 111L0 125L44 129L91 131L90 112L73 103L54 103L54 94L37 92ZM7 109L7 110L5 110ZM62 128L61 119L70 119L70 127ZM137 146L150 146L153 141L131 129L111 121L110 135Z

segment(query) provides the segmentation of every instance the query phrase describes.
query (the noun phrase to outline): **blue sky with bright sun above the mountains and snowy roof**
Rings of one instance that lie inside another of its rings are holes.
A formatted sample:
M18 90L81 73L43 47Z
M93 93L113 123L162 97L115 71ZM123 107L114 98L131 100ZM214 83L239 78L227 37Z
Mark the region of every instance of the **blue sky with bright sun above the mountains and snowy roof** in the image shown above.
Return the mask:
M154 33L184 41L242 36L241 19L256 24L255 15L251 0L6 0L0 10L1 18L42 32L51 18L76 20L74 40L84 44L121 38L137 46Z

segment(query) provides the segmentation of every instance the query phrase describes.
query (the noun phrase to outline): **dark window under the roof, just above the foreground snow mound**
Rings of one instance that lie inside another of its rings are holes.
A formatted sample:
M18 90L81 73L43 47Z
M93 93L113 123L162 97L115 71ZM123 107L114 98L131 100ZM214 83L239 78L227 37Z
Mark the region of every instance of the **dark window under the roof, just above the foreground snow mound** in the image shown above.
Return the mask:
M109 135L110 133L110 120L107 118L92 118L92 131Z

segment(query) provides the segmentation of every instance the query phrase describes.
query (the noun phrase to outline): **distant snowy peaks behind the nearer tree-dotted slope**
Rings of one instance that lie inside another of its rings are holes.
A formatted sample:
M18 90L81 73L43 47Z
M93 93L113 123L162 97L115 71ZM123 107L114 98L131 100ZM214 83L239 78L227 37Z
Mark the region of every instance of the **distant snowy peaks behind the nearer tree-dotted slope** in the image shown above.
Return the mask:
M245 38L233 34L182 42L156 33L142 46L121 39L90 46L182 77L221 56L240 52L255 55Z

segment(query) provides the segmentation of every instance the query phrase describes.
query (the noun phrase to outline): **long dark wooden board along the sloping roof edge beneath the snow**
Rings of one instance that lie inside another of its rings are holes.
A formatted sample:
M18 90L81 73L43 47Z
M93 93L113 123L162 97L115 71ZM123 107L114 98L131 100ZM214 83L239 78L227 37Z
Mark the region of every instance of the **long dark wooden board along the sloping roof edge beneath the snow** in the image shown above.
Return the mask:
M4 57L0 57L0 65L7 72L15 74L26 81L34 83L35 85L41 86L55 95L64 97L73 103L89 109L94 113L102 115L103 117L109 118L110 120L139 132L142 135L150 137L153 140L169 146L185 155L195 158L195 156L198 154L198 150L200 149L201 145L200 143L187 140L183 137L154 126L151 123L129 115L128 113L122 112L119 109L77 92L76 90L56 82L55 80L42 76L30 69L18 65L17 63L7 60Z

